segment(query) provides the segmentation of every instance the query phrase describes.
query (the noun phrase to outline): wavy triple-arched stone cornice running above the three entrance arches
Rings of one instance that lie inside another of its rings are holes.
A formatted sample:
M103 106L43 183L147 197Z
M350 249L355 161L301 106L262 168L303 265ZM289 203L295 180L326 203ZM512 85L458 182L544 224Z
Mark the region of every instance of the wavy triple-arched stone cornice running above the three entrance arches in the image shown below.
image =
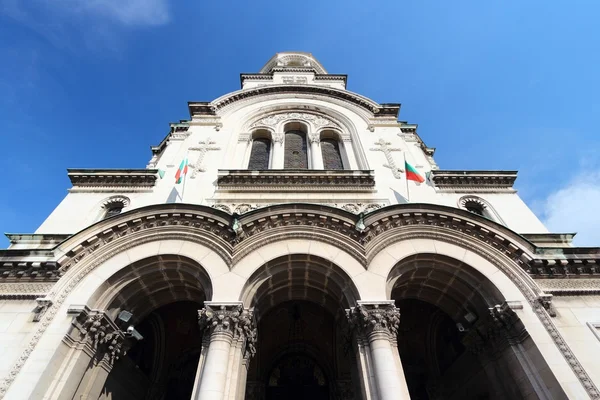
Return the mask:
M600 277L599 248L538 248L502 225L456 208L403 204L382 207L363 217L325 205L298 203L255 209L241 217L191 204L143 207L100 221L54 249L44 250L44 261L28 258L28 252L39 255L36 250L4 250L0 254L0 276L9 282L56 281L82 259L95 257L98 249L117 239L121 242L144 235L146 230L162 232L165 237L175 231L200 235L228 265L266 241L285 235L305 239L314 235L346 248L366 267L379 251L397 240L404 228L419 226L438 229L440 235L470 236L509 257L532 278ZM409 236L412 231L406 230ZM251 240L254 236L260 240Z

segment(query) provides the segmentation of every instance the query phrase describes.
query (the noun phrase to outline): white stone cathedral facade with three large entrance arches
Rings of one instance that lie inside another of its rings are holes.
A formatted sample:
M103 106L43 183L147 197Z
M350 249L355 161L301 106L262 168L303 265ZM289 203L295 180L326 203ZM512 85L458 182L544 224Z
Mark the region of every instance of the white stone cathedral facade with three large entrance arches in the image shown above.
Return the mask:
M0 398L600 399L600 250L278 53L0 251Z

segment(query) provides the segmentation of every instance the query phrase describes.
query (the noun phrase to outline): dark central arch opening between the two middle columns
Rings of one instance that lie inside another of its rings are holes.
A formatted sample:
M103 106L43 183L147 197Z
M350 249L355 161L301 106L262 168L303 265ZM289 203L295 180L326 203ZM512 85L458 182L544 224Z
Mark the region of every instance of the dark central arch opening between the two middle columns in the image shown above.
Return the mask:
M249 277L240 300L258 321L247 395L328 400L357 384L344 310L360 297L339 266L308 254L275 258Z

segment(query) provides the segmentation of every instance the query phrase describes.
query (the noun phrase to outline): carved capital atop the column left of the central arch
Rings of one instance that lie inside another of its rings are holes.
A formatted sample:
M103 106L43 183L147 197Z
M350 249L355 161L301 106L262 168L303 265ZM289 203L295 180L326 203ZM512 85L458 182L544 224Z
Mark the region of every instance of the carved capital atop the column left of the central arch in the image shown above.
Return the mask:
M245 357L256 354L258 333L254 315L241 304L207 305L198 310L198 324L200 330L206 330L211 336L225 335L243 342Z

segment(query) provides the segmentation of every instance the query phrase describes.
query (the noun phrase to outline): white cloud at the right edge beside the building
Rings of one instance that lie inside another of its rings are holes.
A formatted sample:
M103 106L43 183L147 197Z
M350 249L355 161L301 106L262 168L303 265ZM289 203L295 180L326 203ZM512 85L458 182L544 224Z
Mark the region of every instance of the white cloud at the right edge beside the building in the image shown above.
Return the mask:
M600 246L600 172L583 169L540 206L550 232L576 232L575 245Z

